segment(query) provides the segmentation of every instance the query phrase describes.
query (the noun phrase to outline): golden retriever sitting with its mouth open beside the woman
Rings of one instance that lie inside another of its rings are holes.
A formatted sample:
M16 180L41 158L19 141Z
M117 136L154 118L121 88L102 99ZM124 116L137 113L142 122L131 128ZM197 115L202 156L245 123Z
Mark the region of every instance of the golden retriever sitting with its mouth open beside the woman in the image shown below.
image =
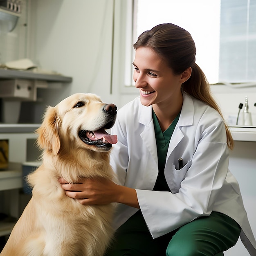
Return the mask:
M84 206L69 198L58 179L115 181L109 164L117 136L117 107L95 94L74 94L48 107L38 133L42 165L29 174L32 198L14 226L1 256L102 256L112 238L113 204Z

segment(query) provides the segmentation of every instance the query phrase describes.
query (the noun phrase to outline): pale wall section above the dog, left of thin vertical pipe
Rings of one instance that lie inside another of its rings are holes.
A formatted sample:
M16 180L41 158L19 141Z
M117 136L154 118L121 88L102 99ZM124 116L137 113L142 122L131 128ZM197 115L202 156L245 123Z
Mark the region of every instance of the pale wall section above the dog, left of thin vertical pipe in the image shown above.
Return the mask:
M43 69L72 76L71 86L45 91L46 103L54 105L76 92L94 92L103 101L110 94L112 0L44 0L31 3L36 13L35 62ZM114 97L115 95L115 97Z

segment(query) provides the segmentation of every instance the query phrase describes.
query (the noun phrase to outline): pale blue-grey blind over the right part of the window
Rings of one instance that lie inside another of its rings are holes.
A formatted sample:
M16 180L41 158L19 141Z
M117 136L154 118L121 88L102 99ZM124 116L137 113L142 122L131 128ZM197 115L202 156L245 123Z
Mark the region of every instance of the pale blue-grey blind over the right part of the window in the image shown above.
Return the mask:
M219 80L256 81L256 0L221 0Z

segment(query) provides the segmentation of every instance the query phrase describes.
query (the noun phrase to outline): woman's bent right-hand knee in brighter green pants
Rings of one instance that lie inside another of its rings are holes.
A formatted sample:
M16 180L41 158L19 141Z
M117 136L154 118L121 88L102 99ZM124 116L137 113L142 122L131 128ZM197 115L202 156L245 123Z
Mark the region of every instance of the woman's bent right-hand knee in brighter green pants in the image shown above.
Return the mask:
M171 239L166 255L216 255L236 244L240 230L233 219L213 212L182 226Z

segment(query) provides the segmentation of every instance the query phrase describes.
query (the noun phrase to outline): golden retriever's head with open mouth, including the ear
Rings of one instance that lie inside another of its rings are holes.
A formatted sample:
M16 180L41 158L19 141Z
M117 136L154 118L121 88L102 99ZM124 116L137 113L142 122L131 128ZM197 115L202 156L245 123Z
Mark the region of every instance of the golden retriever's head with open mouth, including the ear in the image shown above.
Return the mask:
M117 136L105 129L116 119L117 107L103 103L95 94L77 93L57 106L48 107L38 133L38 146L57 155L62 144L94 151L108 151Z

